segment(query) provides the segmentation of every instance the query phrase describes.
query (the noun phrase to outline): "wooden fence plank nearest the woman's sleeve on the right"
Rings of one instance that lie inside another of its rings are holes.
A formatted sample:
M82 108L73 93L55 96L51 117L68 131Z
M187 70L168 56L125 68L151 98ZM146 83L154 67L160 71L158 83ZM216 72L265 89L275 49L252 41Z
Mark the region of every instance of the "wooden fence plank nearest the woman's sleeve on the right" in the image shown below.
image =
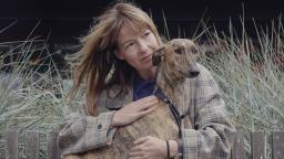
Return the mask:
M242 131L236 131L232 135L233 147L232 147L232 159L244 159L244 136Z

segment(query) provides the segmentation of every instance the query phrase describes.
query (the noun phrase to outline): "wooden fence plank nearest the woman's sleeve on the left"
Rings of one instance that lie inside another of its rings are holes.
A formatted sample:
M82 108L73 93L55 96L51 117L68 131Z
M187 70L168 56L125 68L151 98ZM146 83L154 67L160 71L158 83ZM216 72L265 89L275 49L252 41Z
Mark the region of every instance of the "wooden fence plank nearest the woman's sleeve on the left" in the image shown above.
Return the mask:
M48 159L59 159L58 131L48 132Z

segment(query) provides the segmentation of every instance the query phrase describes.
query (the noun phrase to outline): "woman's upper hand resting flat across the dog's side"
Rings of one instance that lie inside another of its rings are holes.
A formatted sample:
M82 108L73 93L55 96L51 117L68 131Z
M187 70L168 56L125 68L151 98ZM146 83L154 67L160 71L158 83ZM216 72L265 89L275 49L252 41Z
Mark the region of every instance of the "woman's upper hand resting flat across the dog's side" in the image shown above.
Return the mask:
M132 124L136 119L150 114L158 106L159 99L154 95L132 102L116 110L112 118L112 127Z

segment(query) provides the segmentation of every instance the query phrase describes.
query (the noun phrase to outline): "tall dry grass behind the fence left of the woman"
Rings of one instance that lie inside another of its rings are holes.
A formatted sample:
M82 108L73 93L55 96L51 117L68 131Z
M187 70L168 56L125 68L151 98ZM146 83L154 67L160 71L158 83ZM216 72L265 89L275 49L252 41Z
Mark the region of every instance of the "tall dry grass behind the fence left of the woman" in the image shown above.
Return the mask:
M20 158L24 158L24 130L39 130L39 156L44 158L47 132L58 129L74 108L64 99L69 81L62 78L44 41L0 43L1 49L7 46L0 54L0 153L7 130L19 131Z

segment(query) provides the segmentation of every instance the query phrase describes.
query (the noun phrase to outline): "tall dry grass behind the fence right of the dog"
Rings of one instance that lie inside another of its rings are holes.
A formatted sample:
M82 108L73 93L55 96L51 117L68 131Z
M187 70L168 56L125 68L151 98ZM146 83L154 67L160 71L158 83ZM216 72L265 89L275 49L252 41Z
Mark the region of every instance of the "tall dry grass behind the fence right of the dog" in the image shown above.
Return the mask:
M254 20L252 20L254 22ZM229 34L204 25L210 50L201 49L203 63L217 81L232 121L239 130L284 130L284 29L281 19L265 28L254 22L256 39L241 36L230 23ZM250 135L246 136L250 156ZM266 138L271 158L271 138Z

